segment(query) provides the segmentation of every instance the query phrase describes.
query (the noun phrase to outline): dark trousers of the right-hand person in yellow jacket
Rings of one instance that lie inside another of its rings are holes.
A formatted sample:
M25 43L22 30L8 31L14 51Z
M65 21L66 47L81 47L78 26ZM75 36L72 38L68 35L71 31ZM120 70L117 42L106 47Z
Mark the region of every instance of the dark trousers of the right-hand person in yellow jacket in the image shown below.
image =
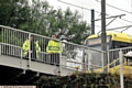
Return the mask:
M50 55L51 55L51 64L59 66L59 54L54 53L54 54L50 54Z

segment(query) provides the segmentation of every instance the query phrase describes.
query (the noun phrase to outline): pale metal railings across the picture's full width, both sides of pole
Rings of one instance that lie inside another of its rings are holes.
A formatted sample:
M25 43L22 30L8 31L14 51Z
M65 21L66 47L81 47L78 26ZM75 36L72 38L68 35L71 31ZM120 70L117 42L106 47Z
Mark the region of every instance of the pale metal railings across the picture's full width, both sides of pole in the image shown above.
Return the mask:
M95 68L99 68L102 70L107 67L109 73L119 73L125 75L132 74L132 59L129 59L127 62L127 58L123 56L128 52L132 51L132 47L109 50L107 52L108 65L103 66L105 52L69 42L55 40L61 44L61 48L63 48L63 52L59 54L59 63L54 63L55 61L51 61L51 54L46 53L46 46L52 40L51 37L3 25L0 25L0 36L2 37L0 43L0 55L13 56L18 57L18 59L24 59L22 45L26 40L31 37L31 35L34 37L34 41L37 41L41 48L41 51L38 52L38 58L33 59L35 62L51 65L59 64L61 67L66 67L69 69L75 69L75 67L78 66L79 70L90 70ZM32 61L31 46L31 42L29 42L29 64ZM122 61L120 61L122 57L123 64ZM122 70L120 70L120 65L122 67ZM121 81L123 82L123 80ZM123 85L121 86L123 88Z

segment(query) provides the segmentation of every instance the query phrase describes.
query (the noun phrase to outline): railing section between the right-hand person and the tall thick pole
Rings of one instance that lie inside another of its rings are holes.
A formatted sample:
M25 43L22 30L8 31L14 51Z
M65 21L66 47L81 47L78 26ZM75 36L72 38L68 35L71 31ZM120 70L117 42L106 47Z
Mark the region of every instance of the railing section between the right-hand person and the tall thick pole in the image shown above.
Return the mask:
M89 48L69 42L62 43L65 45L62 56L65 58L67 64L66 66L68 66L68 68L79 66L80 69L89 70L103 67L102 51Z

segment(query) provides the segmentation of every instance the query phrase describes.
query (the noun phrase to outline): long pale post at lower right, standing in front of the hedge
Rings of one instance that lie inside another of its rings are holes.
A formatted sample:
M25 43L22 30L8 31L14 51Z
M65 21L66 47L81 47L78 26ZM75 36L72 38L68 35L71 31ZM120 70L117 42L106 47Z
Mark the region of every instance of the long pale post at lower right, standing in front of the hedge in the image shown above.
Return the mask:
M124 88L124 84L123 84L123 54L122 54L121 50L119 52L119 55L120 55L120 86L121 86L121 88Z

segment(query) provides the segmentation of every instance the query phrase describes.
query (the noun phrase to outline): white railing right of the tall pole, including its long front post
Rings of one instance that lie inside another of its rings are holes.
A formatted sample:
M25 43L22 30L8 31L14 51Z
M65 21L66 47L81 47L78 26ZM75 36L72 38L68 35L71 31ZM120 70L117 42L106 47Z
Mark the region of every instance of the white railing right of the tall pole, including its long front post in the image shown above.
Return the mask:
M124 88L123 77L132 78L132 55L124 55L132 51L132 47L116 48L108 51L108 73L120 75L120 87Z

